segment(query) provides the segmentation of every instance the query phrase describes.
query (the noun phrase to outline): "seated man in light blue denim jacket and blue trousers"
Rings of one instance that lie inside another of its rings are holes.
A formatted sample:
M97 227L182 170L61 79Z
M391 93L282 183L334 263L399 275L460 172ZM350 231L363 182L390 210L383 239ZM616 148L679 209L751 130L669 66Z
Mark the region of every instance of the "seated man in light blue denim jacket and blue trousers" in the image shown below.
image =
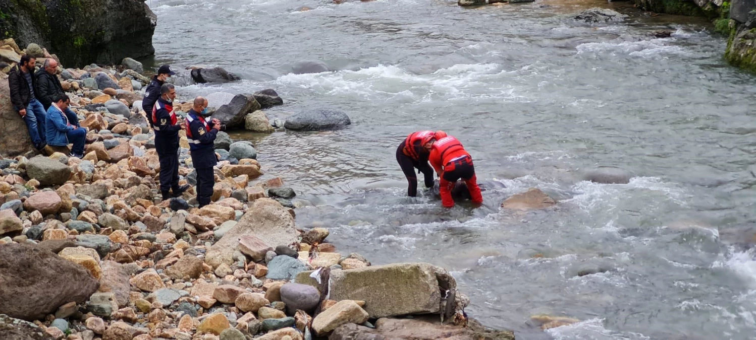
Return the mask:
M68 109L69 99L65 94L53 98L50 109L47 112L48 124L46 133L48 145L66 146L73 144L71 156L84 157L84 142L87 130L79 127L76 114Z

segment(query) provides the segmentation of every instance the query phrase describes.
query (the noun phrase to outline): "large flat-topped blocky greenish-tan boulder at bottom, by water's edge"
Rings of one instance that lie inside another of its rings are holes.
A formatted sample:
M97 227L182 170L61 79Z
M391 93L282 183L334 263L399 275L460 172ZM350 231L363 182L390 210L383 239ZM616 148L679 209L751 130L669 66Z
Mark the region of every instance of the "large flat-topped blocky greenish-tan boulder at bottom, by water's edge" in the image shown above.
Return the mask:
M274 258L274 259L277 259ZM296 283L317 286L310 271L297 275ZM457 283L443 268L429 263L395 263L367 268L332 270L329 299L365 302L371 319L441 311L441 291Z

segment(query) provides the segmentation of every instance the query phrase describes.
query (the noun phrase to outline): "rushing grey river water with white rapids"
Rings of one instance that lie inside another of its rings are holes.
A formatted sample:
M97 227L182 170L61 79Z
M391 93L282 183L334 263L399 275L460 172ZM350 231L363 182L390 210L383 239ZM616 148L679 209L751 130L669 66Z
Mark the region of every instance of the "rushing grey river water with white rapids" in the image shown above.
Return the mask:
M274 88L287 105L271 116L349 113L345 130L234 136L308 205L299 226L330 228L342 253L442 265L469 314L520 339L756 336L756 78L723 63L705 20L593 0L150 2L156 61L243 78L181 87L185 98ZM572 19L596 6L631 18ZM290 73L302 61L333 72ZM479 179L506 187L477 210L405 197L395 148L425 129L457 136ZM582 180L599 166L634 178ZM499 210L530 187L559 204ZM543 332L529 321L540 313L583 321Z

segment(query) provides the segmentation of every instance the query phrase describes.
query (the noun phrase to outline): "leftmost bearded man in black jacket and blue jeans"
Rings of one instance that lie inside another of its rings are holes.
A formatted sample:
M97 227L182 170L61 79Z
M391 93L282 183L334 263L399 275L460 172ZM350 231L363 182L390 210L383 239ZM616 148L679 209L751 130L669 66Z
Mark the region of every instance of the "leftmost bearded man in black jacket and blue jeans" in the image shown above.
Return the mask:
M29 136L32 138L34 147L42 150L47 145L45 139L45 107L34 96L36 79L34 77L34 64L36 59L24 55L21 57L20 67L11 69L8 74L8 86L11 88L11 103L18 114L23 117L26 127L29 128Z

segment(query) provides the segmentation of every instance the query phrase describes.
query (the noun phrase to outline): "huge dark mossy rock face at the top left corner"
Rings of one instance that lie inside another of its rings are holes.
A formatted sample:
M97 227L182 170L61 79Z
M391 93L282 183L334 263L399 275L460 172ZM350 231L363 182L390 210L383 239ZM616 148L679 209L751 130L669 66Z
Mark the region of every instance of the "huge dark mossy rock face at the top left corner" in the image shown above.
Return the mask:
M3 1L0 9L11 14L0 20L0 32L22 46L34 42L48 47L63 65L113 65L125 57L155 53L157 17L141 0L45 0L33 5Z

